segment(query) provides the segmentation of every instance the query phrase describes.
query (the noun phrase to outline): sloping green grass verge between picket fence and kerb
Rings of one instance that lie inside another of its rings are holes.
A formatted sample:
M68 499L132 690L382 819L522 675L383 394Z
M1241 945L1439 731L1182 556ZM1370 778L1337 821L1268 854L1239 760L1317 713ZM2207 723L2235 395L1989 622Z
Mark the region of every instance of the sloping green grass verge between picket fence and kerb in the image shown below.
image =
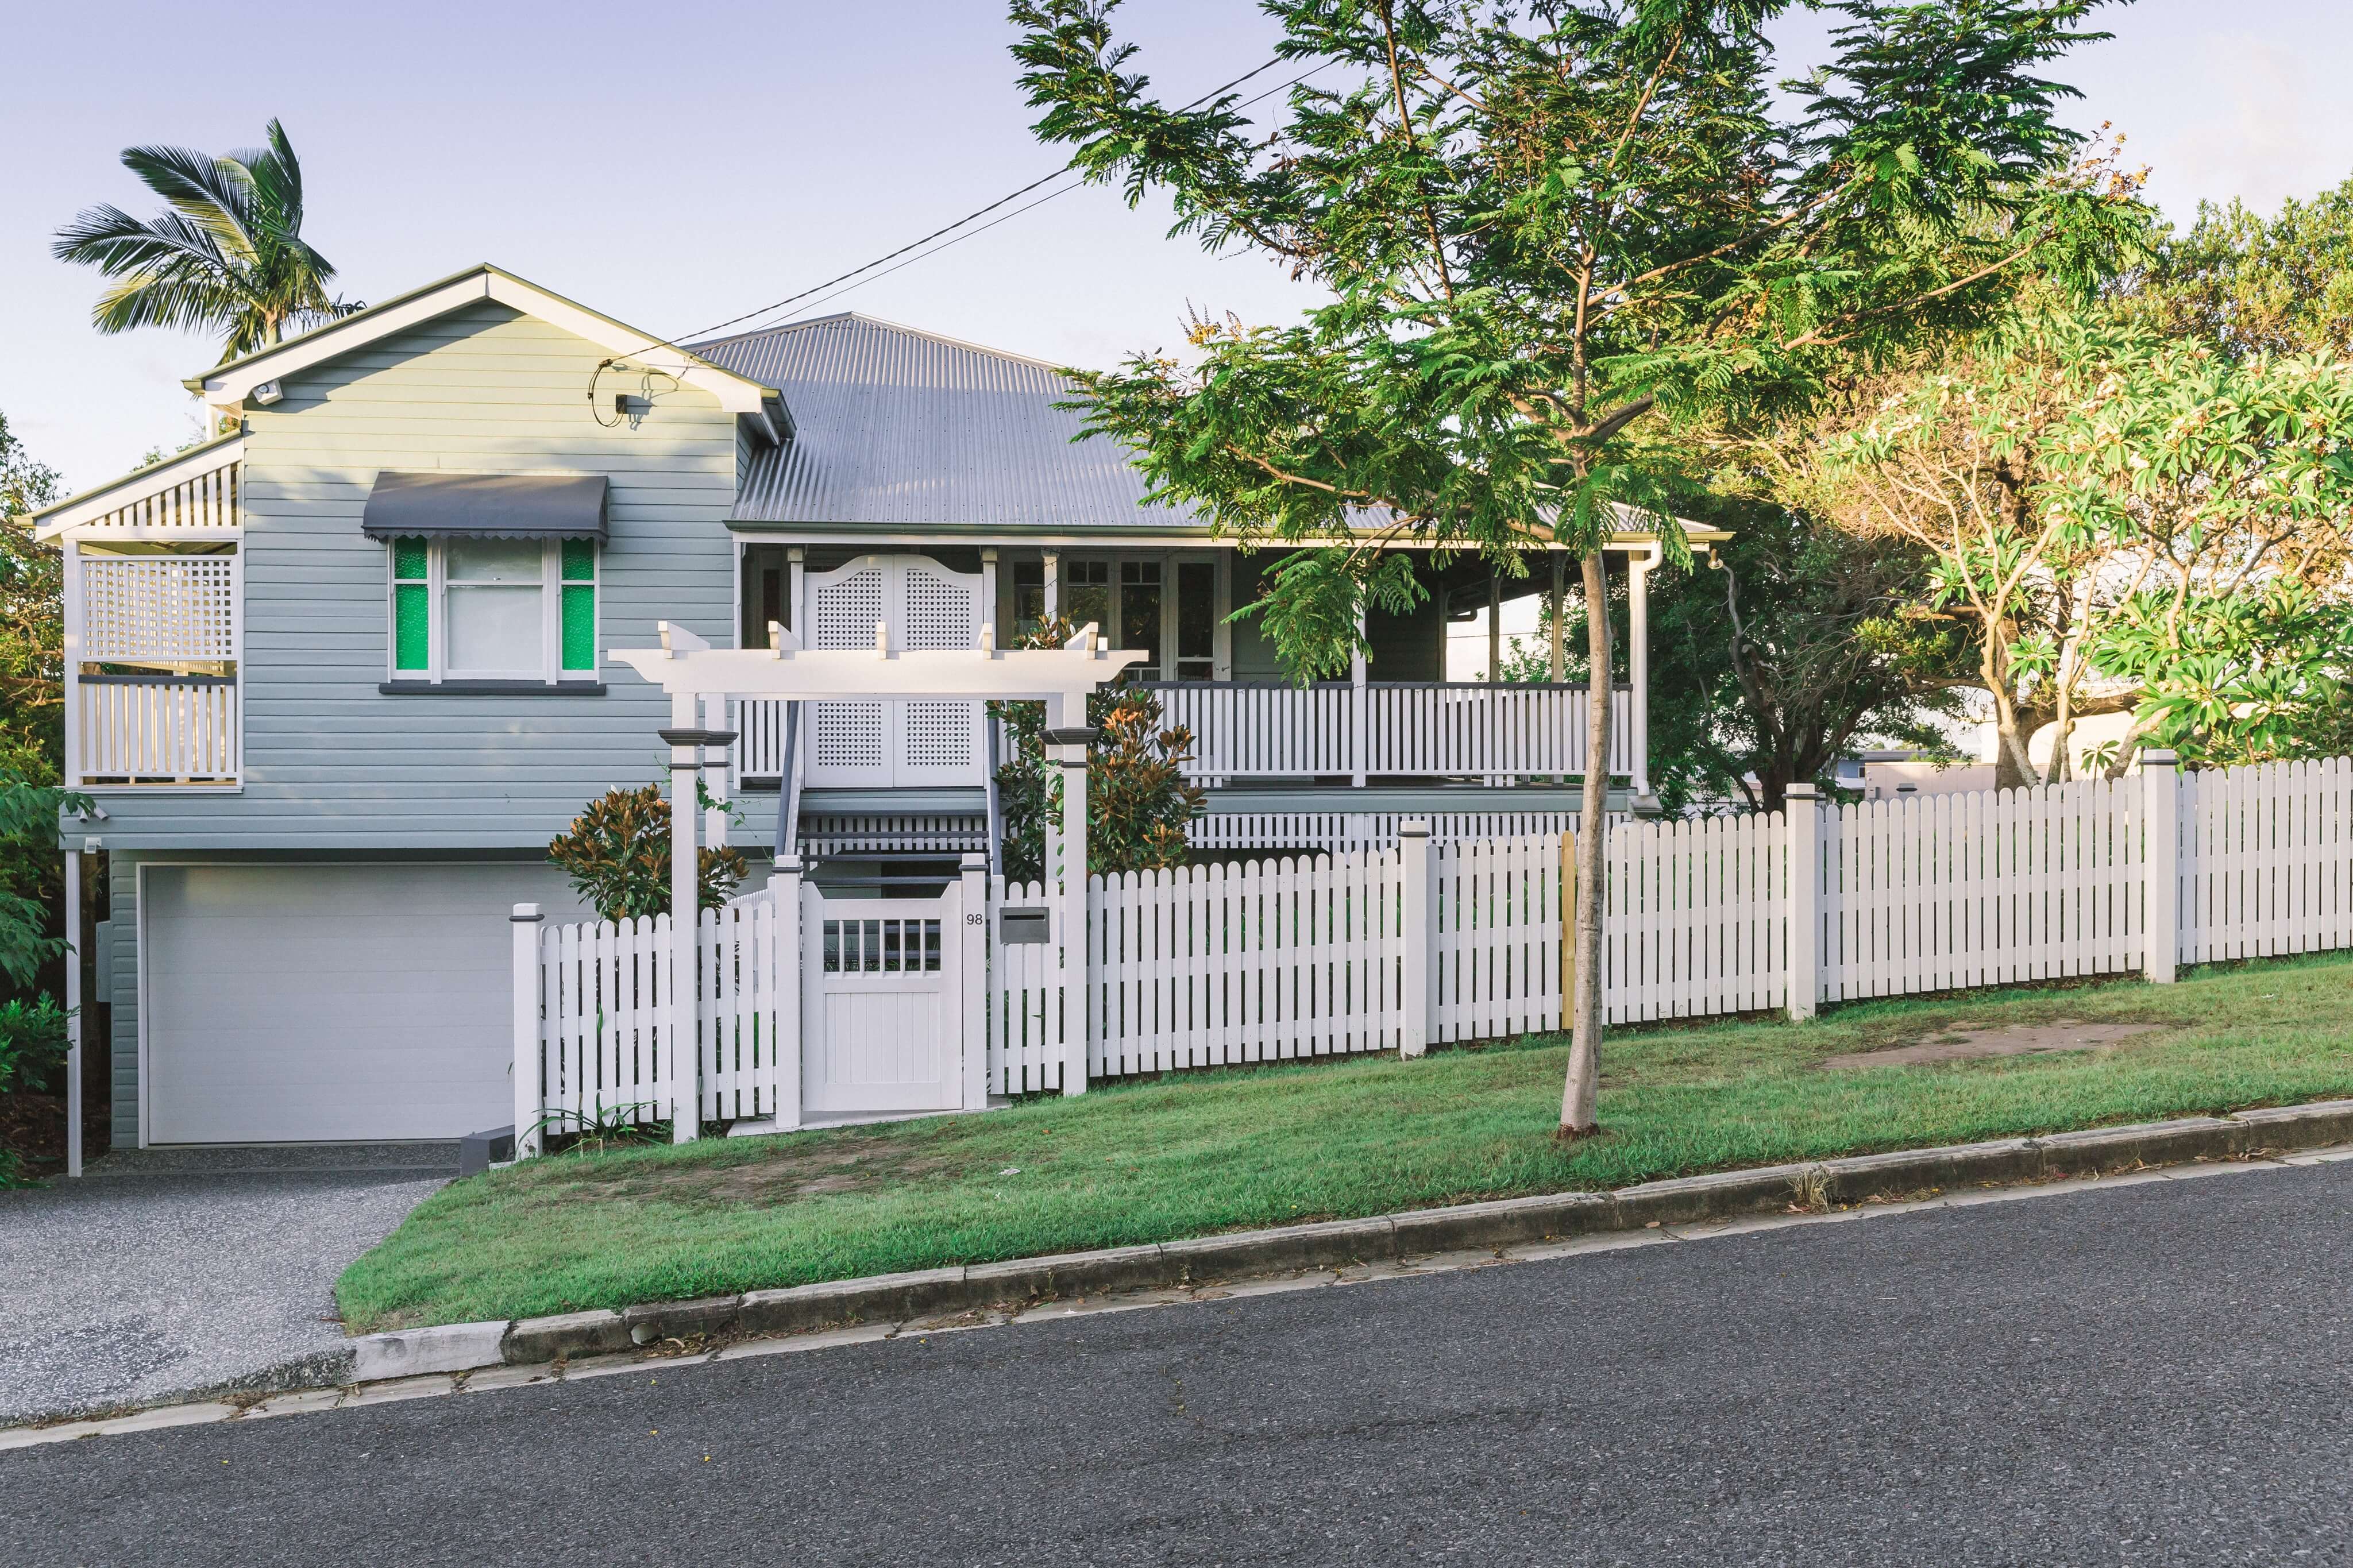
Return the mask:
M1824 1070L1951 1025L2155 1023L2080 1053ZM1202 1072L986 1117L560 1154L426 1199L336 1286L353 1333L536 1316L1729 1166L2353 1095L2353 959L1614 1030L1555 1145L1558 1037Z

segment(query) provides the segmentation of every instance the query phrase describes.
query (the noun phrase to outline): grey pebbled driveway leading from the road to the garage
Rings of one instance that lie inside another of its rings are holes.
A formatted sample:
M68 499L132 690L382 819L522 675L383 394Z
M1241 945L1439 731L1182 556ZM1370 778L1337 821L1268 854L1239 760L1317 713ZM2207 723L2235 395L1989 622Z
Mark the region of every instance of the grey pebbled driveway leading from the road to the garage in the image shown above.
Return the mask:
M334 1276L456 1175L456 1145L122 1150L0 1192L0 1425L332 1382Z

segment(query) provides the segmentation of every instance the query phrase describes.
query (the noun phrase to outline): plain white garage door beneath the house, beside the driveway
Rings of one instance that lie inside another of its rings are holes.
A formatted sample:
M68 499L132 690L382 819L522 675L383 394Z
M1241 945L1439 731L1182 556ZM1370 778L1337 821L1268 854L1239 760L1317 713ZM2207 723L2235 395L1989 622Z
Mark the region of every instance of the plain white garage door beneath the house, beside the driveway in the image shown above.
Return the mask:
M148 1143L461 1138L515 1119L508 910L548 865L151 865Z

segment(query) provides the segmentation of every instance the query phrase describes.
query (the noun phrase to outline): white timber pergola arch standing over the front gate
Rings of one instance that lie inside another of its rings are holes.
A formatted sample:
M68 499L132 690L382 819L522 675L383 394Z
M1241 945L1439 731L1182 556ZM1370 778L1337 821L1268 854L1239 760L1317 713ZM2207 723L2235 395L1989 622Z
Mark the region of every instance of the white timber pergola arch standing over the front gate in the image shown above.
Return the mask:
M671 696L671 1138L696 1135L699 1093L694 1084L696 1051L696 926L701 914L699 844L694 827L696 790L687 785L704 766L704 748L727 748L734 731L701 729L696 715L704 698L758 696L791 703L809 701L974 701L1047 705L1047 755L1061 766L1061 961L1082 964L1087 940L1087 696L1144 661L1139 649L1106 649L1089 623L1061 649L998 649L991 628L981 628L972 649L894 649L889 625L875 625L873 649L802 649L781 625L769 625L765 649L715 649L682 625L656 623L659 649L607 649L614 658ZM786 785L791 788L791 785ZM779 811L788 802L779 802ZM786 867L791 844L779 844L776 865ZM798 865L798 860L795 860ZM1052 879L1054 867L1047 867ZM798 959L795 959L798 961ZM1071 987L1066 987L1071 990ZM798 1032L798 1030L795 1030ZM1064 1093L1087 1088L1087 1032L1071 1030L1078 1070L1064 1072ZM967 1051L986 1048L965 1041ZM518 1135L520 1135L518 1121Z

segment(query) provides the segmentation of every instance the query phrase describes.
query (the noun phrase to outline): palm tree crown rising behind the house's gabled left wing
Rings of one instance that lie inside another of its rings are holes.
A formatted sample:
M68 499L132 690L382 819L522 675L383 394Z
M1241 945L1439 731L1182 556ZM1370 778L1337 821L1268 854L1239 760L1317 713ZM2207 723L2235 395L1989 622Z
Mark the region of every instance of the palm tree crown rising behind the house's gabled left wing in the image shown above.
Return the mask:
M228 158L122 150L122 167L169 212L141 223L120 207L92 207L49 247L115 280L89 313L99 331L221 331L228 362L360 308L327 294L334 268L301 237L301 160L275 120L268 139Z

